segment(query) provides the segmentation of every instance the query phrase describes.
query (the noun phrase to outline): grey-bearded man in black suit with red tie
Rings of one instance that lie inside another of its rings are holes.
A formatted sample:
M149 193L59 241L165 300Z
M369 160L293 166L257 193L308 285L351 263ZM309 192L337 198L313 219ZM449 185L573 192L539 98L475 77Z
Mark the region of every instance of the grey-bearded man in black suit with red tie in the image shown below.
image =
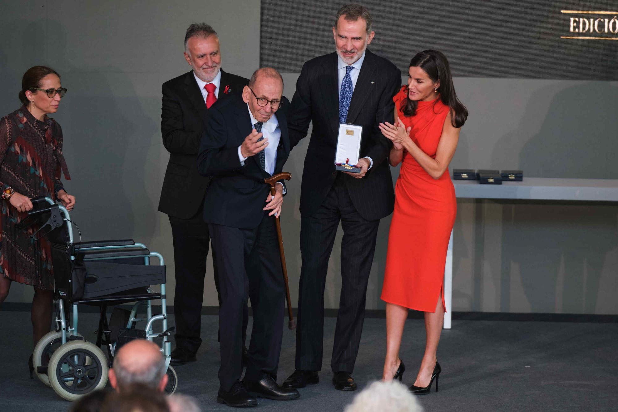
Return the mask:
M185 34L185 59L192 70L163 84L161 134L170 153L163 179L159 212L166 213L172 226L176 293L176 348L171 364L182 365L196 360L201 344L201 306L203 302L208 225L203 208L210 178L197 171L200 139L211 107L232 95L240 97L249 80L221 69L219 36L205 23L192 24ZM219 280L213 252L214 284ZM221 304L221 296L219 296ZM248 313L243 314L243 342ZM243 345L243 354L247 349Z

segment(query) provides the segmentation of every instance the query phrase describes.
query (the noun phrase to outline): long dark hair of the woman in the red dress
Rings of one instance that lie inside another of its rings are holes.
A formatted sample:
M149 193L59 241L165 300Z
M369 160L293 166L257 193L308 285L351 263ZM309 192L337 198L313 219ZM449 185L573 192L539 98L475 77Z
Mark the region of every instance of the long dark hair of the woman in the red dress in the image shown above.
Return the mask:
M440 80L440 87L438 87L440 100L444 105L451 108L453 127L464 126L468 118L468 109L457 98L451 76L451 67L446 56L437 50L423 50L412 58L410 67L420 67L434 83ZM417 114L417 101L406 97L402 102L402 109L405 116L414 116Z

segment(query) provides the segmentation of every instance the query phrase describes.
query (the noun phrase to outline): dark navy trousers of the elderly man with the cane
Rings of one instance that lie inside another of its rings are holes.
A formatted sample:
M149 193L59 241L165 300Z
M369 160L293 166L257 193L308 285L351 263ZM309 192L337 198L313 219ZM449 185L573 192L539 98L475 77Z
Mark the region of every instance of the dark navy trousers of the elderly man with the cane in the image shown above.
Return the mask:
M286 286L274 217L265 212L255 229L209 225L217 258L221 309L221 388L242 375L243 307L251 299L253 328L245 382L276 379L283 336Z

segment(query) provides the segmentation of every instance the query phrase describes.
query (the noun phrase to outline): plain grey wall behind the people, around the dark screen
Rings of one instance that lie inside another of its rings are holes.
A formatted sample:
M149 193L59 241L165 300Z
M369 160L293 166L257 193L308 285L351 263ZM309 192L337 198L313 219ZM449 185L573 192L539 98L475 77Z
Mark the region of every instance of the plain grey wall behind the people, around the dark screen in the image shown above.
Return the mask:
M28 67L49 64L62 74L69 93L55 117L65 133L74 179L67 188L78 198L72 217L84 239L133 238L161 252L171 290L171 230L167 217L156 212L168 159L159 130L161 84L188 70L182 40L188 24L195 21L209 22L218 30L227 71L248 77L260 61L260 2L184 4L181 10L159 0L98 5L41 0L25 9L2 1L0 17L0 113L19 105L17 92ZM339 5L332 2L332 14ZM308 35L332 39L330 30ZM400 53L412 54L427 48L404 43L401 47ZM599 62L603 58L599 49ZM297 77L284 73L284 94L290 99ZM523 168L527 176L618 179L613 161L618 152L618 82L472 77L454 81L470 118L452 167ZM286 166L293 178L282 229L293 306L300 274L298 200L307 144L305 139L295 148ZM398 169L392 174L396 179ZM458 207L454 311L618 314L615 204L460 200ZM389 223L385 218L378 234L368 309L384 308L379 293ZM339 302L340 241L341 233L329 264L326 307ZM422 239L410 239L412 245L418 241ZM217 302L212 276L209 257L205 306ZM32 288L14 284L8 301L29 301L31 296Z

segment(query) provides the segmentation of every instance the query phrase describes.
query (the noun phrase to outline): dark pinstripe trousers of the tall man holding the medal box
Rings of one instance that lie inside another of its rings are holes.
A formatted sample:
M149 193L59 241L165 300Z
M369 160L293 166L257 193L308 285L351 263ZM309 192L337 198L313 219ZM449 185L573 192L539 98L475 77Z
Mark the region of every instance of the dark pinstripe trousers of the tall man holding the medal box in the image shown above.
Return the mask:
M324 286L337 227L341 221L341 297L332 348L333 372L350 372L365 320L367 281L376 248L379 220L365 220L338 176L323 204L300 226L302 269L298 286L296 369L320 371L324 339Z

